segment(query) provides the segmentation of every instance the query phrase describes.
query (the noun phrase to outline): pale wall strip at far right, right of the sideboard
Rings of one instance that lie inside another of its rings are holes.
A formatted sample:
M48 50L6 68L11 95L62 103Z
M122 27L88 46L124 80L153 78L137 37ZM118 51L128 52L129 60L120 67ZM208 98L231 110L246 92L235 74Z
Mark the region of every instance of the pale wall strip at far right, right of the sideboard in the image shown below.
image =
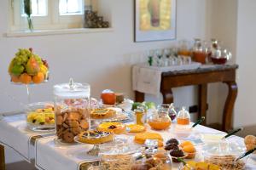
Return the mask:
M256 63L256 1L238 1L237 58L238 99L235 106L236 127L256 125L255 63Z

